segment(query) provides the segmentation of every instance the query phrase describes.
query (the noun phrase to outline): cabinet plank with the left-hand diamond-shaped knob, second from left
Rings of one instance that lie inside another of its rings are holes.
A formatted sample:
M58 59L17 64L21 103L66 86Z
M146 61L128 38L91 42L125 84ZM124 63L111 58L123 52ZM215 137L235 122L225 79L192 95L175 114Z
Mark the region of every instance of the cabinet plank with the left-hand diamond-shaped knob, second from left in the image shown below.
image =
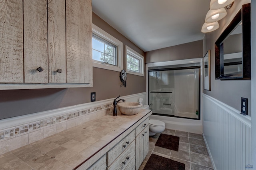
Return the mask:
M24 0L24 82L48 82L47 0ZM38 72L36 69L44 70Z

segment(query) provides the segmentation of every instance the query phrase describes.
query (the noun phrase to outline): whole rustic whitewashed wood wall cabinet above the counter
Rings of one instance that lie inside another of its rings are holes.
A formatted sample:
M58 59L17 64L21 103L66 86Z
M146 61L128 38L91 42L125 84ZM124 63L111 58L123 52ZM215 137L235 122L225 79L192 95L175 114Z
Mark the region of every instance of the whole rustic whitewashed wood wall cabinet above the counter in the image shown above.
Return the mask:
M2 1L0 15L0 90L92 86L92 0Z

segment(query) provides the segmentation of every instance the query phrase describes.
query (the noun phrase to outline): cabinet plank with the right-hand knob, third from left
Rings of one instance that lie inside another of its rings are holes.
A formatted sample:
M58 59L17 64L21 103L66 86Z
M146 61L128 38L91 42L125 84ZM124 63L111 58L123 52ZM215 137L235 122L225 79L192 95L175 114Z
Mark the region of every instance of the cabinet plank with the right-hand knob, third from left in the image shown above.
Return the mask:
M49 83L66 83L65 0L48 0L48 68Z

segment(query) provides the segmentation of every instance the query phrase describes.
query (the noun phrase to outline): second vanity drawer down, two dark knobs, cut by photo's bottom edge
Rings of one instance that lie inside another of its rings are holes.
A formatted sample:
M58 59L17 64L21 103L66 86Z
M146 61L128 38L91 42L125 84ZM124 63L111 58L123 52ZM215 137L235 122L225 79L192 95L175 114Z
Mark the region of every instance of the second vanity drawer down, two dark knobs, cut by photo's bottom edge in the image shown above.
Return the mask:
M108 170L123 170L135 158L135 140L130 146L110 165Z

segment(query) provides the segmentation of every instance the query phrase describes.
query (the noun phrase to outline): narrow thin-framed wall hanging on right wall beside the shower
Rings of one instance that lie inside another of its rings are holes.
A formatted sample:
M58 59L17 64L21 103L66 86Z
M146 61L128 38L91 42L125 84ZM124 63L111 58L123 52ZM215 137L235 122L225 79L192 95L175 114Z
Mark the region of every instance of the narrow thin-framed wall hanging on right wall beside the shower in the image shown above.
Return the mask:
M204 90L211 91L211 51L208 50L204 55L204 66L203 66L203 76L204 76Z

